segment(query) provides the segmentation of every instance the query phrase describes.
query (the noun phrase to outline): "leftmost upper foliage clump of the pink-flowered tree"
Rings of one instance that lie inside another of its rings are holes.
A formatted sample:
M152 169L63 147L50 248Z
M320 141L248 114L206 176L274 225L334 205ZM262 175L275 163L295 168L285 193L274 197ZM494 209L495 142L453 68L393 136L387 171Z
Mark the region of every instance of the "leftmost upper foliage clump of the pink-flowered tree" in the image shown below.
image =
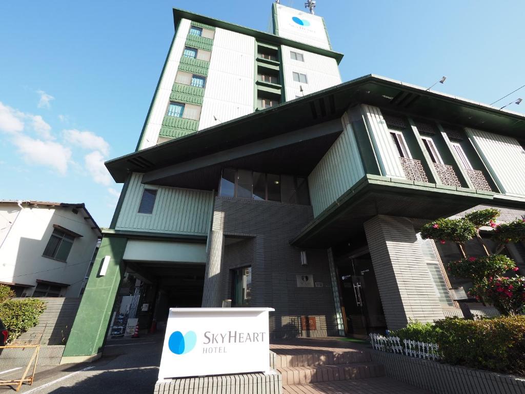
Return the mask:
M476 227L466 219L438 219L421 227L423 239L465 243L476 236Z

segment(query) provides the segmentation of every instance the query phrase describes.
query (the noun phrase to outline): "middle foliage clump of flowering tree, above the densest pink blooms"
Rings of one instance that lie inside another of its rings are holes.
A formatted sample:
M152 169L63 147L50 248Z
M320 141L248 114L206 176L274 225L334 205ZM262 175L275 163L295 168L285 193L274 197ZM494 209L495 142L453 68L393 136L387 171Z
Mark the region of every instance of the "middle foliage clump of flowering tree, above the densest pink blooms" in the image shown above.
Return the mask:
M447 272L452 276L472 279L472 281L477 282L490 276L503 275L509 269L514 268L516 268L516 263L510 258L497 254L452 261L447 265Z

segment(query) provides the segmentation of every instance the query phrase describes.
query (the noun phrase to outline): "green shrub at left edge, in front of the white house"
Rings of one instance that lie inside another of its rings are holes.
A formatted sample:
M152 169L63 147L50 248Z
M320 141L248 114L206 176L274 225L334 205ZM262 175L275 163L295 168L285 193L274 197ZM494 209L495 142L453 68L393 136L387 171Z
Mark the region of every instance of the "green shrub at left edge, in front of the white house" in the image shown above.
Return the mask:
M4 287L0 285L0 295L7 294ZM0 319L9 331L7 342L11 343L20 334L38 324L38 317L46 309L46 304L37 298L9 299L5 298L0 303Z

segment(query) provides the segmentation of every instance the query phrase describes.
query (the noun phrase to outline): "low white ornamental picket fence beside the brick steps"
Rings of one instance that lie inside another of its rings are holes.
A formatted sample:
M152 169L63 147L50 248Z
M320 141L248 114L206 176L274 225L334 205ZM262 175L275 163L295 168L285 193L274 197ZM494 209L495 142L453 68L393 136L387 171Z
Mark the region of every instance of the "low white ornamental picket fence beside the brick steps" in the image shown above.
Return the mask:
M441 358L437 344L403 339L403 345L401 345L399 337L385 337L379 334L370 334L370 341L372 348L375 350L423 358L425 360L439 360Z

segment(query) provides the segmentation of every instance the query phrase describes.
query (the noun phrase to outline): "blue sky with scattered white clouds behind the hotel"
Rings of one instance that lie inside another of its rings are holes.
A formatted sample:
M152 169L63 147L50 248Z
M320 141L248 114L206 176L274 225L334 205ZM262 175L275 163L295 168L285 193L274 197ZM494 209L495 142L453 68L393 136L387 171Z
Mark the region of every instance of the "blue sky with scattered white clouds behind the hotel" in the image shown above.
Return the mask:
M135 149L173 37L171 7L267 30L271 3L1 2L0 199L85 202L108 226L122 185L102 162ZM343 81L447 76L436 88L485 103L525 84L522 0L317 3L345 54ZM498 105L518 97L525 88Z

